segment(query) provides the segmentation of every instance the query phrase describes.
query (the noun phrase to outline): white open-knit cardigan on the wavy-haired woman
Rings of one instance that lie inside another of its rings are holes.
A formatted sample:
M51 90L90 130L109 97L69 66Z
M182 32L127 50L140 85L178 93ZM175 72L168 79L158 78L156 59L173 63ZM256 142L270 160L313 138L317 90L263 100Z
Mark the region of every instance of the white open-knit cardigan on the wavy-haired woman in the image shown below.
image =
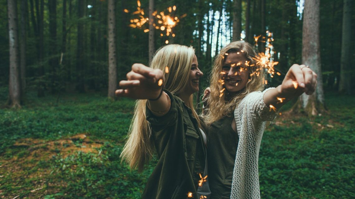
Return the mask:
M264 93L269 89L249 93L234 110L239 143L231 199L260 199L258 157L261 138L266 121L272 121L277 114L264 103Z

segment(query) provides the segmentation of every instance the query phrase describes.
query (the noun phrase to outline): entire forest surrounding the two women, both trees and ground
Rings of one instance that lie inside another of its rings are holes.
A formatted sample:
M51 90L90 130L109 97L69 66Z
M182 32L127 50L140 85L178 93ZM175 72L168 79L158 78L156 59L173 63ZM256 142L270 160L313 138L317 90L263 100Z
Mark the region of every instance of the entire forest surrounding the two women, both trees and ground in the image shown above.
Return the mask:
M315 94L289 102L264 133L262 198L353 198L352 0L0 5L0 198L140 198L157 160L142 173L120 161L134 101L115 97L119 81L164 45L193 46L200 106L215 56L235 40L274 63L267 87L295 63L318 74Z

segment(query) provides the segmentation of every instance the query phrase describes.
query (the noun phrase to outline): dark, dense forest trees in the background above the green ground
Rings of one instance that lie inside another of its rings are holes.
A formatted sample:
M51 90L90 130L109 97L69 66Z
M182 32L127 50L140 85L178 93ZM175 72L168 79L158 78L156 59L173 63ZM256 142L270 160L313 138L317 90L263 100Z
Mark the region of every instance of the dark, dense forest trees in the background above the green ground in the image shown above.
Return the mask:
M274 61L279 62L276 68L286 72L293 63L302 63L304 1L141 0L144 17L154 15L154 11L168 14L167 8L176 6L174 15L180 17L180 22L173 28L175 37L154 29L152 23L157 20L142 28L130 27L130 20L136 18L132 13L137 10L137 1L116 0L108 5L109 2L0 0L0 86L9 87L10 104L20 103L13 98L12 91L18 92L18 96L29 90L36 91L38 97L88 91L105 91L111 96L115 86L109 86L108 74L116 77L111 84L117 85L133 63L148 64L154 51L165 45L166 40L169 44L195 47L205 74L201 89L209 84L209 70L221 47L240 38L253 44L253 37L265 35L266 30L273 33ZM115 8L114 13L109 12L110 7ZM354 92L355 83L350 81L355 76L354 40L350 36L355 35L355 15L351 12L354 8L349 0L320 1L320 73L325 91ZM7 13L16 20L11 21ZM115 18L111 36L109 14ZM18 33L15 38L19 44L18 63L11 58L9 28ZM113 48L110 38L115 38ZM259 42L256 49L264 51L264 44ZM115 52L115 63L109 64L112 60L109 51ZM117 72L109 73L113 69ZM13 79L14 70L18 73L17 80ZM273 78L271 85L281 80ZM20 89L15 91L12 85L17 81Z

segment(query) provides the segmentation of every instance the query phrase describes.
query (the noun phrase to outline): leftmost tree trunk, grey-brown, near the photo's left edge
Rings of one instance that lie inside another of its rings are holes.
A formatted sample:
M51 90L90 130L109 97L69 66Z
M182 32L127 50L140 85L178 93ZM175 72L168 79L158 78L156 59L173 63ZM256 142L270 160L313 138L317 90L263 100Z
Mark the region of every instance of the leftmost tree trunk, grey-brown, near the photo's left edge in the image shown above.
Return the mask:
M10 52L10 77L9 77L9 101L11 107L20 108L21 104L21 81L20 63L18 52L17 35L17 2L7 1L7 14L9 18L9 52Z

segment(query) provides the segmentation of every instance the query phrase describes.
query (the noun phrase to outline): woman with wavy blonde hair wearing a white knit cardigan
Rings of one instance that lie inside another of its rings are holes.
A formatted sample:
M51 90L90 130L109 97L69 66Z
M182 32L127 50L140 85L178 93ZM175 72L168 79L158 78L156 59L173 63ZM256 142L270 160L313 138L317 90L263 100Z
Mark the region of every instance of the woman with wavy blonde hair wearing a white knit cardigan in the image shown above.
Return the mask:
M211 199L259 199L258 155L266 121L290 99L314 92L317 75L294 64L283 82L264 90L264 70L244 41L231 42L215 59L205 90ZM295 89L293 82L298 84ZM207 97L208 96L208 97ZM282 98L282 103L280 99ZM271 110L271 111L270 111Z

